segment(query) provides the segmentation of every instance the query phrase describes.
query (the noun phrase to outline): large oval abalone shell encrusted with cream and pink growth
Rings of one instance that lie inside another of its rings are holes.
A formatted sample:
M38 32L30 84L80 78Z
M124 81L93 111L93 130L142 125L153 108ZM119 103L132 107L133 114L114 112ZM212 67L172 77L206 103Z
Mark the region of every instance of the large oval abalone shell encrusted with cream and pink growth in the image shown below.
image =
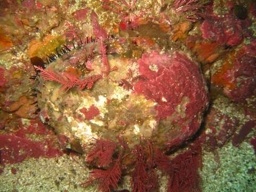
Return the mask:
M94 56L90 56L88 71L83 60L90 55L85 50L92 46ZM140 59L119 54L103 57L104 46L84 44L41 70L43 78L37 86L40 116L49 118L45 122L68 138L63 145L70 143L86 154L94 139L119 142L118 138L123 138L129 148L151 140L154 146L168 150L197 132L208 102L196 62L178 50L160 54L151 49ZM73 65L69 55L80 58L81 65L76 68L81 76L68 70ZM82 88L74 86L99 74L100 78ZM85 147L79 149L77 143Z

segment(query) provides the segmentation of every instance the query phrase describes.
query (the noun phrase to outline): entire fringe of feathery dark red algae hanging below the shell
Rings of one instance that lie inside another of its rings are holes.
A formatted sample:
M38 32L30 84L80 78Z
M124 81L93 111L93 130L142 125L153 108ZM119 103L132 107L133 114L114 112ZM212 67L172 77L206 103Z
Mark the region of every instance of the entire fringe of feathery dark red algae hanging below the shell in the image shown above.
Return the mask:
M106 148L109 144L110 146L115 146L115 143L110 141L99 140L97 142L95 147L90 151L92 158L89 159L89 162L92 162L94 157L99 157L96 159L102 159L101 155L97 155L97 151L102 151L103 146L106 146ZM107 153L109 157L113 158L114 154L112 150L110 153ZM123 161L128 156L132 157L132 161L123 164ZM202 148L199 141L196 141L193 145L189 145L188 150L172 159L166 156L161 150L153 147L150 141L147 141L145 145L134 146L130 154L123 155L121 150L117 159L113 158L113 161L107 162L108 166L105 165L101 169L94 169L89 179L83 185L88 186L90 183L98 181L100 191L116 189L116 183L121 178L121 171L125 171L127 169L126 166L133 164L134 169L131 173L130 181L133 186L133 192L157 190L158 176L156 169L163 171L164 174L170 175L168 191L201 191L199 187L201 180L199 179L198 169L202 169ZM95 163L95 165L99 165L99 163ZM104 182L104 179L106 179L106 182Z

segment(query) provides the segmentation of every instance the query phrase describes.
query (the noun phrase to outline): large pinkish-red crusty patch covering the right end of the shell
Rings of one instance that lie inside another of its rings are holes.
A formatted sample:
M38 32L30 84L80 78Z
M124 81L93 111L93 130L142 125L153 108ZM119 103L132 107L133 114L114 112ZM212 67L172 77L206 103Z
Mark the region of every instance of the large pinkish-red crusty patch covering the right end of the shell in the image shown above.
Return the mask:
M158 103L156 109L159 119L165 119L173 114L175 107L181 103L183 97L189 98L186 106L187 115L190 115L195 109L204 108L205 102L207 102L207 93L204 89L203 78L198 67L185 55L174 53L170 58L169 55L153 52L143 54L142 59L138 62L140 75L144 79L135 84L134 90ZM157 71L150 70L151 65L156 65ZM194 76L191 76L190 73L193 73ZM191 86L194 87L193 92L188 91ZM176 94L177 92L179 95ZM163 97L166 101L163 101ZM197 103L196 106L192 106L194 102Z

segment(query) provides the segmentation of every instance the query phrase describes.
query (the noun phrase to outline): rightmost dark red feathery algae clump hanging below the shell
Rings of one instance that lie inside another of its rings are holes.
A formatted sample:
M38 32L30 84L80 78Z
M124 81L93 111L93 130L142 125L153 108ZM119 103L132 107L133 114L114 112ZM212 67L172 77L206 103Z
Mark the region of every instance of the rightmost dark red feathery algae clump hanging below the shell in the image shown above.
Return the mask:
M167 191L193 191L199 192L201 189L201 178L198 169L202 169L202 146L197 139L189 149L178 154L174 158L169 158L161 150L154 150L154 163L157 169L169 175Z

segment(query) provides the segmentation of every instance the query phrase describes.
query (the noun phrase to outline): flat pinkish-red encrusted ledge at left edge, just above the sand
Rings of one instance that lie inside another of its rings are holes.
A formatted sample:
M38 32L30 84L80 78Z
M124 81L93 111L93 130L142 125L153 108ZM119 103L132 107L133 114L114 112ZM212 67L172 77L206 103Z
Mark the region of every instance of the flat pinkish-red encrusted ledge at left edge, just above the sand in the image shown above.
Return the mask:
M33 141L27 138L27 134L47 135L48 138ZM61 156L63 153L54 143L56 141L53 133L38 121L28 127L21 127L16 132L0 134L1 164L20 163L27 158Z

